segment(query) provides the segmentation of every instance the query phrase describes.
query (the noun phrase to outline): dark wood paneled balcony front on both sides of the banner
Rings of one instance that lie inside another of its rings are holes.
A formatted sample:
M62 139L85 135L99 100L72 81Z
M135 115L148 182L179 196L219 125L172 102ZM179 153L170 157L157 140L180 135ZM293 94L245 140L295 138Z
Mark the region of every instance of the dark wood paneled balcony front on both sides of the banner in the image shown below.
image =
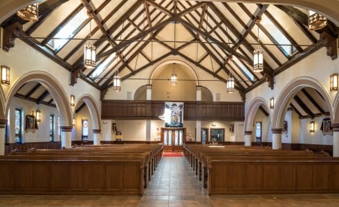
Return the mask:
M184 120L244 121L242 102L184 101ZM102 119L160 119L165 101L102 100Z

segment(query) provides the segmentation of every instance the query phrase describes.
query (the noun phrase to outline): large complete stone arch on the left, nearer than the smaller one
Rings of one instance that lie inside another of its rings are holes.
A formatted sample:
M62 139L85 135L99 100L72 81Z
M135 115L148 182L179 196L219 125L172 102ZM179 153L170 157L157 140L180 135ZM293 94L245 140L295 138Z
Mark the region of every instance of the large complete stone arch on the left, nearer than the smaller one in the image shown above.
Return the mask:
M6 96L7 99L5 117L7 117L8 115L8 110L10 108L10 101L12 100L12 97L14 97L17 90L19 90L19 88L28 81L37 81L38 83L41 83L48 90L48 92L50 92L55 101L57 109L59 109L60 111L61 126L72 126L73 119L71 117L71 103L64 88L62 88L62 85L48 72L38 70L26 73L25 75L17 79L17 81L15 81L15 83L12 85L12 88L10 88Z

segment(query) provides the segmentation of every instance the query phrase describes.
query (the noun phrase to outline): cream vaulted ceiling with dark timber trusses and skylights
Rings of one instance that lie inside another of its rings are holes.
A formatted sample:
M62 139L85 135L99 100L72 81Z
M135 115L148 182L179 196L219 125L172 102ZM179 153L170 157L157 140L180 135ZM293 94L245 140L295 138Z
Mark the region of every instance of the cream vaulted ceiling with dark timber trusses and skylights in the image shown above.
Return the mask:
M1 26L21 23L22 41L102 91L112 86L117 70L124 81L175 55L225 83L232 73L235 88L245 94L266 81L273 88L276 75L324 46L322 32L338 36L331 22L322 30L309 30L306 12L292 6L215 1L48 0L39 4L39 21L14 14ZM262 17L258 25L257 17ZM93 69L83 66L89 34L97 48ZM257 39L264 49L264 72L259 73L253 72ZM30 83L30 90L21 89L17 96L53 104L42 97L44 92L33 96L38 84ZM300 117L327 112L320 107L321 99L310 101L311 92L302 90L291 103ZM309 110L301 104L306 99L313 105Z

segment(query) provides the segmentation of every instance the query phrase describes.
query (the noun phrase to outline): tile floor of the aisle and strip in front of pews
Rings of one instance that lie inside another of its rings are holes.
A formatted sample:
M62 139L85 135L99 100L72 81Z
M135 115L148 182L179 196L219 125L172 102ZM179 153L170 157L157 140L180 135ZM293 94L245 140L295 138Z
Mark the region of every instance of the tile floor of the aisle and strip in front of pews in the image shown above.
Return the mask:
M199 186L184 157L164 157L139 196L17 196L0 195L0 206L339 206L339 194L217 195Z

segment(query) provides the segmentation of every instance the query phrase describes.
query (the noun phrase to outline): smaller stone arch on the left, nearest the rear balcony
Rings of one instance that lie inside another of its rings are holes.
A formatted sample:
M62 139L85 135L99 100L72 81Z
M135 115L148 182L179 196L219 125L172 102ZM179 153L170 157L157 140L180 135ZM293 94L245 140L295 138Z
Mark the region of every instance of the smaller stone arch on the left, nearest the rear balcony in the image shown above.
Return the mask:
M100 110L98 104L95 102L94 97L89 94L82 95L79 99L77 99L75 108L77 108L77 106L82 103L82 101L84 101L86 106L89 108L89 114L91 115L93 129L100 130Z

